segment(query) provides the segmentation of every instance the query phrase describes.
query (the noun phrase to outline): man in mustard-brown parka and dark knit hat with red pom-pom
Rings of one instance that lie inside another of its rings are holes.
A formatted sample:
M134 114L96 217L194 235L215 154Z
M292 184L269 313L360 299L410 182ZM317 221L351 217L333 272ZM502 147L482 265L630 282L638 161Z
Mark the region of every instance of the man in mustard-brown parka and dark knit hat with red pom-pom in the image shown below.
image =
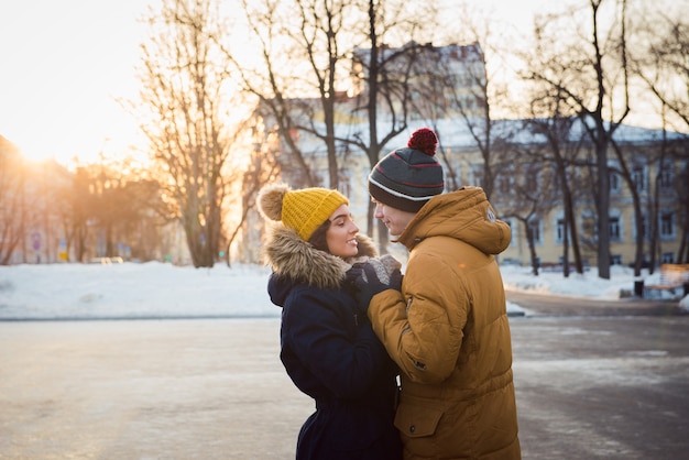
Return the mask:
M520 459L512 342L495 254L510 244L479 187L442 194L437 136L369 175L375 218L409 251L402 292L358 280L373 329L401 369L395 425L405 459Z

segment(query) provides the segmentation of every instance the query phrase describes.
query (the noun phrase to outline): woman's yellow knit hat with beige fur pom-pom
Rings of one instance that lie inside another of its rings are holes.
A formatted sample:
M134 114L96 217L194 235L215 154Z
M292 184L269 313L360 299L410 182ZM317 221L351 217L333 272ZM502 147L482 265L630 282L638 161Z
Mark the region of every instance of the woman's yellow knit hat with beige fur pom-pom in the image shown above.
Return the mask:
M271 184L259 191L259 211L265 219L282 222L308 241L337 208L349 205L344 195L328 188L291 190L286 184Z

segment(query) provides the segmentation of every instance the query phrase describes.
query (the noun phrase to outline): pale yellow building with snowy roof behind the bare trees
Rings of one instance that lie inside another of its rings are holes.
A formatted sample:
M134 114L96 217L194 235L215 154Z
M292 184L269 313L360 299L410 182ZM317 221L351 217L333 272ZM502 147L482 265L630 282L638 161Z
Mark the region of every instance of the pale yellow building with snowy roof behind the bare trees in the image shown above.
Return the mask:
M595 266L597 173L594 147L582 127L586 121L570 120L569 131L560 145L569 156L564 158L567 164L558 175L556 149L543 133L533 129L534 120L491 120L486 116L484 61L478 44L436 47L409 43L405 47L414 50L413 61L398 61L396 65L411 65L412 68L407 74L409 78L404 81L406 86L401 85L408 89L406 128L389 140L381 155L404 146L414 130L422 127L434 129L440 140L437 157L445 167L446 191L464 185L481 186L489 193L499 216L510 222L513 241L501 254L501 262L557 266L565 261L566 252L568 261L575 260L576 242L583 265ZM396 51L384 48L382 56L385 58ZM349 197L359 222L367 221L370 201L367 177L372 165L365 152L352 149L353 144L342 140L357 139L362 145L369 144L370 125L361 111L357 111L361 107L359 99L368 90L367 68L370 64L367 53L368 50L354 52L353 89L338 101L339 116L335 127L338 188ZM395 75L394 68L389 68L387 73ZM317 107L317 101L311 107ZM380 140L392 132L400 120L395 118L398 112L394 112L394 105L381 103L379 110ZM324 119L316 110L311 112L310 125L325 132ZM273 125L270 120L264 121L265 127ZM277 152L278 163L284 165L280 178L299 187L300 182L291 176L291 166L295 162L275 132L275 129L266 129L265 138L272 135L271 149ZM305 153L304 158L316 178L315 185L329 187L329 164L322 140L299 130L289 135ZM480 145L477 139L483 144ZM687 135L620 125L611 140L608 157L612 263L627 265L635 261L639 232L637 216L641 216L639 228L644 232L643 263L680 262L681 254L687 253L683 248L689 227ZM570 197L564 191L564 183L570 187ZM567 218L568 208L572 210L571 219ZM371 229L360 227L378 239L376 226Z

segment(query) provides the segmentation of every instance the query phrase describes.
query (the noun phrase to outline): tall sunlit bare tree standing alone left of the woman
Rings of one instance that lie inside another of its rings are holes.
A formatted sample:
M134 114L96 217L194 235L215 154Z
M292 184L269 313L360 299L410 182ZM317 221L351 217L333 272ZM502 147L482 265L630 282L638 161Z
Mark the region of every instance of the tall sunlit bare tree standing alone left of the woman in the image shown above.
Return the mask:
M164 0L142 45L140 111L161 184L176 206L194 266L212 266L222 229L230 154L229 63L216 46L222 31L214 0ZM143 117L142 117L143 118Z

